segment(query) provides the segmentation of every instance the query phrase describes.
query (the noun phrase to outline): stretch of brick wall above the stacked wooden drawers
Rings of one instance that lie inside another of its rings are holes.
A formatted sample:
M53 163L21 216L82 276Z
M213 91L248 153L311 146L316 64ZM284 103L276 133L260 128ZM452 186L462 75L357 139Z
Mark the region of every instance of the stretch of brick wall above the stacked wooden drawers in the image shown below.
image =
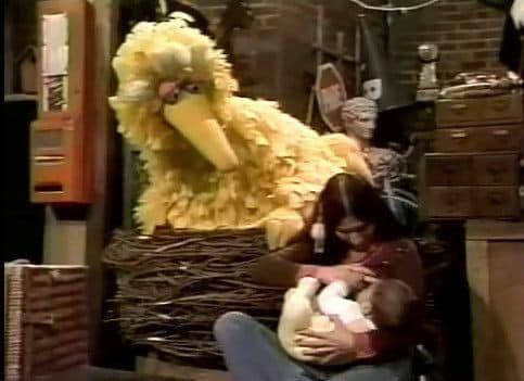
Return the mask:
M442 0L407 15L394 17L392 52L400 63L399 79L414 84L419 63L417 47L436 43L443 81L460 72L502 71L498 50L504 15L477 0Z

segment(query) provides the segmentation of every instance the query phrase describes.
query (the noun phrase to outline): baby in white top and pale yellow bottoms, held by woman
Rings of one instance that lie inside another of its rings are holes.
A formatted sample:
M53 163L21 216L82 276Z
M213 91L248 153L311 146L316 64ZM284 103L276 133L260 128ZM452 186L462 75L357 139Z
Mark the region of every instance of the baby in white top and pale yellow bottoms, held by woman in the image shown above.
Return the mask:
M279 320L278 336L283 348L291 357L304 361L307 357L295 344L299 331L332 331L334 323L330 316L336 316L355 333L399 327L405 325L409 305L416 300L411 288L397 279L370 284L358 293L356 301L346 299L349 288L344 281L330 283L317 295L319 289L317 279L302 278L296 288L285 293Z

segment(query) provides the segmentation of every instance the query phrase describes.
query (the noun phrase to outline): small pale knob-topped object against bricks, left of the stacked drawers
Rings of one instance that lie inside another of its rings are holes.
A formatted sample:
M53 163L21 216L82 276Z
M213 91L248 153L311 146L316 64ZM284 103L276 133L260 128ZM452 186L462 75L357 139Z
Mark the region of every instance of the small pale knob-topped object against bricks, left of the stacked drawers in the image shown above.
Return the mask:
M433 43L424 43L419 46L418 51L421 68L419 73L417 101L431 102L438 98L438 81L436 76L438 48Z

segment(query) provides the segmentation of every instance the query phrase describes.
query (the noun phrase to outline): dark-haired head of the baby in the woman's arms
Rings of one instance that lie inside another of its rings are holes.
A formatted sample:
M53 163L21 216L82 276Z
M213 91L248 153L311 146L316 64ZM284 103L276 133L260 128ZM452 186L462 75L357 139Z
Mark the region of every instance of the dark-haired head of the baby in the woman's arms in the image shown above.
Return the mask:
M398 279L383 279L362 290L357 303L376 328L404 328L410 325L417 295Z

